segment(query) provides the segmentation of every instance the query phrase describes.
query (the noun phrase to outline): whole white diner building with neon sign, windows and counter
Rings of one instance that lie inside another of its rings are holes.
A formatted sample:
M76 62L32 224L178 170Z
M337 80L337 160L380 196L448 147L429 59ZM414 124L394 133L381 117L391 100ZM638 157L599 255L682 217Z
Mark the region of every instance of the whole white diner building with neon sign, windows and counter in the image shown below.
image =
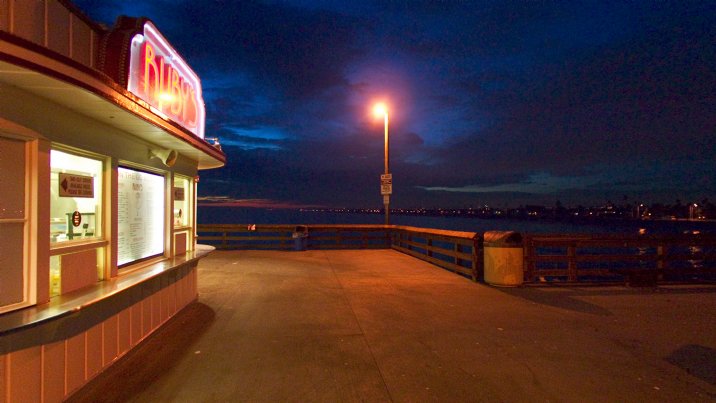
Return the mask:
M196 300L204 122L151 21L0 0L0 402L69 397Z

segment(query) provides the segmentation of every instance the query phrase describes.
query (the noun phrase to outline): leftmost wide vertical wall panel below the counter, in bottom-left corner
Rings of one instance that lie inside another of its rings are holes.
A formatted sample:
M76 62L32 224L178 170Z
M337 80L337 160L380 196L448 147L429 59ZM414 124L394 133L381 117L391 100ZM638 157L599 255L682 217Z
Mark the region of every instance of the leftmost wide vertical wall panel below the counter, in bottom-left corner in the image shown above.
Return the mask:
M15 351L10 356L10 401L39 402L42 380L42 347Z

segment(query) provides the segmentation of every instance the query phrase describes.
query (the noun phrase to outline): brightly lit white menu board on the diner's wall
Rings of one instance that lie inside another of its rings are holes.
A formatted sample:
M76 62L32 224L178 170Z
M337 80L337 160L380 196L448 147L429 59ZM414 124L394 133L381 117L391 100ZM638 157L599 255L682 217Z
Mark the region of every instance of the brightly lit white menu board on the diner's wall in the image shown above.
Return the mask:
M117 264L164 252L164 177L118 170Z

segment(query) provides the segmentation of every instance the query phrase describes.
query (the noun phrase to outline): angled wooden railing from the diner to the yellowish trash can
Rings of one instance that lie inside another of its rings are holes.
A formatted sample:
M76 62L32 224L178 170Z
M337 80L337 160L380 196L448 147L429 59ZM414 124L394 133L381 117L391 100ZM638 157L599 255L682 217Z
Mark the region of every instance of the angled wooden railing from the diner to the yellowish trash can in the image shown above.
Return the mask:
M305 231L305 232L304 232ZM396 225L201 224L198 241L217 249L393 248L469 277L482 276L481 237L474 232ZM306 234L306 238L301 236Z

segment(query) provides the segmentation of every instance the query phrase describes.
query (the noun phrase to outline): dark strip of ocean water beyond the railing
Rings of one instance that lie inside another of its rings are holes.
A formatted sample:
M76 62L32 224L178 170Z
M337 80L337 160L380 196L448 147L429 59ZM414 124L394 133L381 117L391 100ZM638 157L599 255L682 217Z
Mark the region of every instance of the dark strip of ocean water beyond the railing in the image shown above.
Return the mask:
M245 207L198 208L199 224L382 224L382 214L333 213L292 209L261 209ZM700 231L716 234L713 221L628 221L604 220L565 222L552 220L520 220L511 218L428 217L393 214L391 224L410 225L455 231L518 231L554 234L680 234Z

